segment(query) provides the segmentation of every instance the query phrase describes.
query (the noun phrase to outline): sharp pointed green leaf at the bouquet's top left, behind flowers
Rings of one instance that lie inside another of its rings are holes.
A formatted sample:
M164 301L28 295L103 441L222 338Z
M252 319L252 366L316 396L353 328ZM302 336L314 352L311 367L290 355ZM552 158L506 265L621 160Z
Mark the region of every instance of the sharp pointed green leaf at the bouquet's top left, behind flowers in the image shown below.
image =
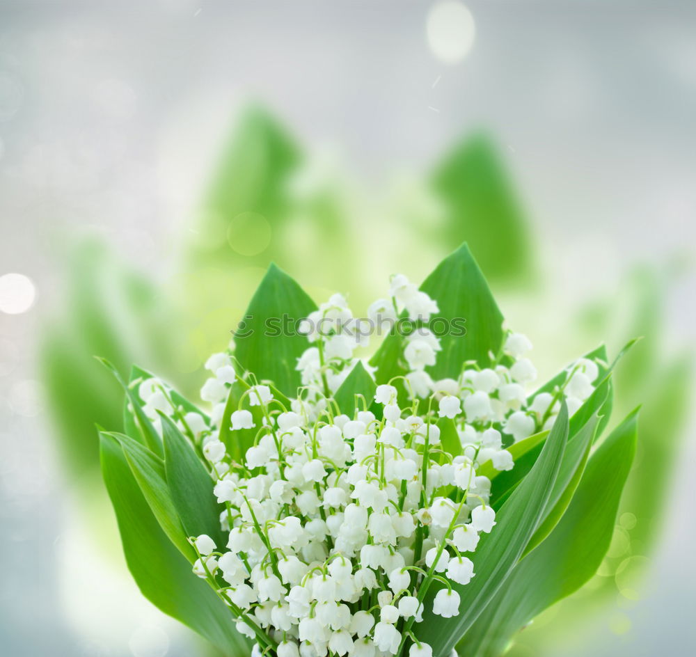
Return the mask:
M235 336L239 363L259 380L269 379L281 393L294 397L301 384L297 359L309 347L296 328L314 310L316 304L302 288L271 264L246 310L245 337Z

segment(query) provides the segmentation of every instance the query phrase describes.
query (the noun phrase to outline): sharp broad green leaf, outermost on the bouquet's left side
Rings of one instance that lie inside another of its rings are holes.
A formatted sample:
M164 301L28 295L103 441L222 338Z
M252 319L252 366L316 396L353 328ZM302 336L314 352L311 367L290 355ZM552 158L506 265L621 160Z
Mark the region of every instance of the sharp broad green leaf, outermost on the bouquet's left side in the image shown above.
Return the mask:
M230 610L173 546L133 477L115 438L100 436L102 474L116 512L123 553L142 594L159 610L189 626L226 657L249 654Z

